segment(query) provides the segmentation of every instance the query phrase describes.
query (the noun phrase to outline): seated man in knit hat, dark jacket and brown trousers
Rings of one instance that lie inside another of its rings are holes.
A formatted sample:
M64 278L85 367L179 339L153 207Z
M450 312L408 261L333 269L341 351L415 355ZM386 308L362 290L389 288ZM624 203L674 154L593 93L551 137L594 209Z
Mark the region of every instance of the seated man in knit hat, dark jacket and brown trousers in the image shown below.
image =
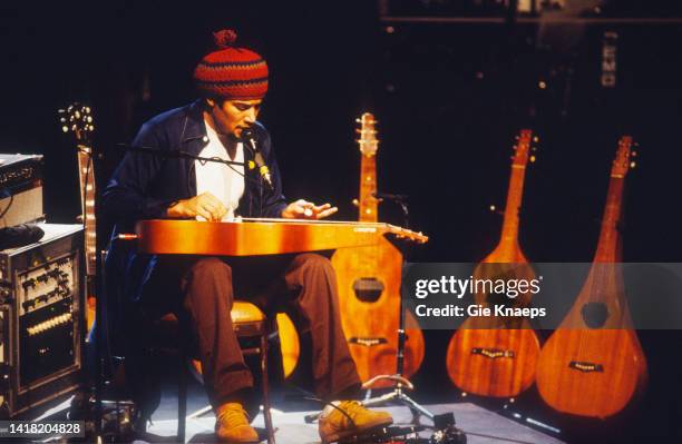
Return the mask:
M139 219L221 221L236 215L320 219L337 210L329 204L285 203L270 135L256 121L267 91L267 66L257 53L235 47L233 31L217 32L215 38L218 49L205 56L194 71L201 98L146 122L133 145L246 166L262 156L270 169L270 184L257 168L128 152L103 194L104 211L116 221L113 238L129 233ZM144 357L135 347L142 334L139 325L172 310L193 333L216 415L216 435L228 443L257 442L245 412L253 377L230 316L236 293L269 313L293 313L298 329L310 333L315 392L339 407L327 406L323 412L319 425L322 441L390 424L388 413L344 401L357 395L360 379L341 328L330 262L316 254L249 259L156 257L113 241L106 262L107 282L118 287L116 295L128 307L126 374L143 415L147 417L158 405L158 397L144 395L158 383L148 372L145 375Z

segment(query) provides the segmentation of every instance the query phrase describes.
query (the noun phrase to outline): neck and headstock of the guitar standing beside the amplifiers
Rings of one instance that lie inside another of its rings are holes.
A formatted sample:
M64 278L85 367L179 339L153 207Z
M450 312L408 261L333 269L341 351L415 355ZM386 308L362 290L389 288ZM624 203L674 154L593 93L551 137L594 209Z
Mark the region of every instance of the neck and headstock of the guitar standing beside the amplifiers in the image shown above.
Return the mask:
M78 182L80 188L79 218L85 231L86 296L88 330L95 322L95 278L97 275L97 226L95 219L95 168L90 136L95 130L90 107L72 103L59 110L59 122L64 132L71 132L76 139L78 156Z

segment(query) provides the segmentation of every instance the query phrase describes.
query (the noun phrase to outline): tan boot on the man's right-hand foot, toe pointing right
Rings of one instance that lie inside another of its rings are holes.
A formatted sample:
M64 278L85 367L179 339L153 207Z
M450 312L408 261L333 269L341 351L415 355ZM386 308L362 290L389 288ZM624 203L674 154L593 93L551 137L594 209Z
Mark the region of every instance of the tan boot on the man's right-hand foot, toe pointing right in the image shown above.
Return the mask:
M372 412L357 401L341 401L337 406L339 408L325 407L320 415L318 430L323 443L332 443L393 423L390 413ZM339 410L345 412L345 415Z

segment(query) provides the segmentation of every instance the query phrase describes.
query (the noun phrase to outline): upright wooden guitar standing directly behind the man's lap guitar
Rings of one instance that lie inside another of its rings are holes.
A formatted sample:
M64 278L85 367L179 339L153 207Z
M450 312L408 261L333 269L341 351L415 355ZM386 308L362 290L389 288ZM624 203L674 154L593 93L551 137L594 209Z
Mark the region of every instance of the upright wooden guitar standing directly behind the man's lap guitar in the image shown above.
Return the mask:
M360 223L377 223L377 139L374 117L366 112L360 119L361 152ZM341 322L351 356L362 382L397 371L398 326L402 254L386 238L374 246L342 248L332 256L339 283ZM417 241L426 241L417 239ZM405 367L402 375L413 375L425 354L423 335L411 314L406 317ZM379 382L374 387L388 386Z

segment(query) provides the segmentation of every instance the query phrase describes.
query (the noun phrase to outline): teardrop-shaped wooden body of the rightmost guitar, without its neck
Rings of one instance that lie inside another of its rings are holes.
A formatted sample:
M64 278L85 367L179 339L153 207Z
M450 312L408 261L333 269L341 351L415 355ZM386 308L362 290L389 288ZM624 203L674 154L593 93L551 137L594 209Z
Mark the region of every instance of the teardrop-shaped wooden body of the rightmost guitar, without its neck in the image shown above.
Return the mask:
M595 298L595 292L602 297ZM585 320L590 304L600 304L608 314L601 327L591 328ZM646 379L646 359L632 329L620 268L598 264L543 347L537 369L540 396L559 412L604 418L625 408L643 392Z

